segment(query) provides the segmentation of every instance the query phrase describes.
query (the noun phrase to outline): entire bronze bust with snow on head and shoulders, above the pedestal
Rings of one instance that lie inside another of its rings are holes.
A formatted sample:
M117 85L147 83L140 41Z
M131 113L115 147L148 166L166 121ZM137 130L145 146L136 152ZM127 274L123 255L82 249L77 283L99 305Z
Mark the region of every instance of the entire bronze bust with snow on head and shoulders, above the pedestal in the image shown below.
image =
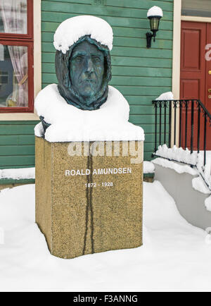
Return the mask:
M111 79L112 27L95 16L75 16L54 35L58 84L37 95L37 137L49 142L143 140L129 123L129 104Z

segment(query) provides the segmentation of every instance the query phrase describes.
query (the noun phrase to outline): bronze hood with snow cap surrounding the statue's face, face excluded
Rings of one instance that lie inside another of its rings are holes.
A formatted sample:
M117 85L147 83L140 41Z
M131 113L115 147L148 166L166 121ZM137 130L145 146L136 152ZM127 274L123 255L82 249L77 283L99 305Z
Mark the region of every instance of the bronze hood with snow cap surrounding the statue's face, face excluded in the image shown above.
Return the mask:
M89 101L79 95L70 79L70 57L80 42L87 40L103 51L105 71L101 90ZM108 82L111 79L110 50L113 47L113 30L105 20L94 16L77 16L60 24L54 35L56 48L56 75L60 95L73 106L84 110L99 109L108 98Z

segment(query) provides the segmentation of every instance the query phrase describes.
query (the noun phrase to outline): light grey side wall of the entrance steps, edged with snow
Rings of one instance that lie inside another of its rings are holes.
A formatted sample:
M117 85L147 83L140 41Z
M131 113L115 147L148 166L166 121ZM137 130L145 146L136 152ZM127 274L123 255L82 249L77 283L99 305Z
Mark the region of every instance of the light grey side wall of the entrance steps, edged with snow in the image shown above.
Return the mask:
M167 159L155 159L155 180L174 198L181 216L193 226L211 226L211 191L196 169Z

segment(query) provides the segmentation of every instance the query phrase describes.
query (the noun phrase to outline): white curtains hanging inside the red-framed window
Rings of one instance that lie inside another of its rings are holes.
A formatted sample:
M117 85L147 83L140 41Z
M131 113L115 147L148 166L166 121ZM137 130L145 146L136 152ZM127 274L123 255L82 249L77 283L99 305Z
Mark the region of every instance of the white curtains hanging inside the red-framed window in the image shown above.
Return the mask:
M13 34L27 33L27 0L1 0L0 13L4 32ZM11 99L18 107L28 105L27 47L8 46L15 78Z

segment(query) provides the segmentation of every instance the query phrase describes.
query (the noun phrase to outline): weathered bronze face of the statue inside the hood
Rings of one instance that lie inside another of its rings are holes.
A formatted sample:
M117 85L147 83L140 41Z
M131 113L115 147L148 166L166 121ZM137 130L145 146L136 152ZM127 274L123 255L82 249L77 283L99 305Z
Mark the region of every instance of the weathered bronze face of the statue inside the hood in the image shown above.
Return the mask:
M70 79L79 94L94 96L100 89L104 75L104 55L95 44L77 44L70 57Z

